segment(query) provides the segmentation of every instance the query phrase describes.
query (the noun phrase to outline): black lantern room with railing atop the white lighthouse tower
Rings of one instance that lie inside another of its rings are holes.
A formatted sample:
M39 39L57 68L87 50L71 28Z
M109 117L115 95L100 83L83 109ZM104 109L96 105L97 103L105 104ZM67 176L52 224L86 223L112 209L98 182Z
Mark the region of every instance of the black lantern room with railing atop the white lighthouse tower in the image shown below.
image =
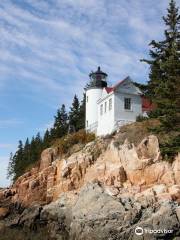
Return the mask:
M107 73L101 71L101 68L98 67L96 72L91 72L89 74L90 77L90 83L88 84L87 88L103 88L107 87Z

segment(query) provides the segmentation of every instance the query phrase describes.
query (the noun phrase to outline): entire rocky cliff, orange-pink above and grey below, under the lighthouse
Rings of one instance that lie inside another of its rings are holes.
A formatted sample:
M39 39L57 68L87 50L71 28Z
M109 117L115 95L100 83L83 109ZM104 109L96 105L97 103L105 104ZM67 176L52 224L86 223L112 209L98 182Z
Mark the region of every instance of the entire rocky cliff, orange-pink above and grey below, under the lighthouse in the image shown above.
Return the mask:
M179 236L180 154L172 163L163 161L154 135L138 144L122 139L96 139L69 157L56 148L44 150L39 168L1 190L0 231L31 229L37 239L42 227L42 239ZM143 235L135 233L138 228Z

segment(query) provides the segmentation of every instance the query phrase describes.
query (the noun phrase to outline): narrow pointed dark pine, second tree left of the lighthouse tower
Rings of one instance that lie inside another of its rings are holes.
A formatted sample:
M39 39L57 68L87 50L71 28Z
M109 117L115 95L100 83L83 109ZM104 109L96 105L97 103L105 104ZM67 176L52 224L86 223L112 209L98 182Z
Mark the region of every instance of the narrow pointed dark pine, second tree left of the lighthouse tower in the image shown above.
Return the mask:
M79 118L80 104L78 97L75 95L69 112L69 125L73 126L75 128L75 131L79 130Z

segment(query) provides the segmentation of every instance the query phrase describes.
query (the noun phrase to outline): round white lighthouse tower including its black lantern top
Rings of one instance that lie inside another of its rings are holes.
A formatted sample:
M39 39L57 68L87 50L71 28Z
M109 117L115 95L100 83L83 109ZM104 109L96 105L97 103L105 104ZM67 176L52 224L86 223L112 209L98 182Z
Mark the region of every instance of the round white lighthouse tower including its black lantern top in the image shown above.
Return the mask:
M97 101L101 98L104 87L107 87L107 74L98 67L96 72L89 74L90 83L86 90L86 130L97 132L98 127L98 107Z

